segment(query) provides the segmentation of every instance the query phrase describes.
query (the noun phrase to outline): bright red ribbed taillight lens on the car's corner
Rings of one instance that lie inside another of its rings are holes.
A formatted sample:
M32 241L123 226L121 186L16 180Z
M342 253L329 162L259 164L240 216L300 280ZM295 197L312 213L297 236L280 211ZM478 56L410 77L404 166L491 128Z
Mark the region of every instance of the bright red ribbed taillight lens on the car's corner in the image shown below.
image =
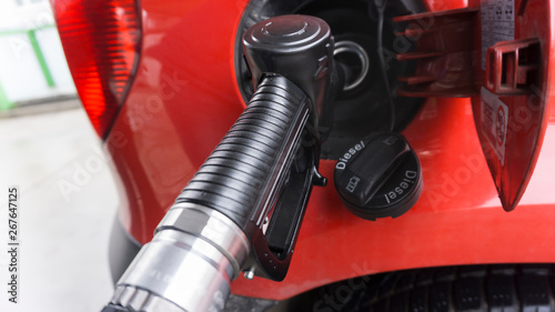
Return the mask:
M58 31L75 88L104 138L131 87L141 46L135 0L54 0Z

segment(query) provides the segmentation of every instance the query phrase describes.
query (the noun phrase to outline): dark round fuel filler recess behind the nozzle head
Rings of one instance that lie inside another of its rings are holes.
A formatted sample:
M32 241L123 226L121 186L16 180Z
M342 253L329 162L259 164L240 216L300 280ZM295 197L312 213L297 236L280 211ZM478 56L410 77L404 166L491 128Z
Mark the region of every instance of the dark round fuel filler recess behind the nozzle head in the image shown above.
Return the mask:
M400 132L424 100L397 95L397 89L403 84L398 77L413 72L415 63L396 60L397 53L413 48L410 42L400 44L396 33L403 24L392 20L424 11L420 0L389 0L381 24L380 11L372 0L251 1L243 12L235 40L235 74L243 99L246 102L253 93L252 76L242 57L241 37L246 28L275 16L314 16L330 24L335 39L334 58L345 80L343 91L331 109L333 127L322 144L321 158L336 160L353 143L372 132Z

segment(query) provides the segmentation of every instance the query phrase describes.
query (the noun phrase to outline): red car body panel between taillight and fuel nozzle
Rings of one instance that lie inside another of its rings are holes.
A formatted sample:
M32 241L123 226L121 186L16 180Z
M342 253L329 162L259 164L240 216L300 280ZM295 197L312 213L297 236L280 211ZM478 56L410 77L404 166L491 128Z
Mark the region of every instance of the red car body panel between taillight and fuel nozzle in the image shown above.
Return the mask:
M108 147L129 201L120 219L144 243L244 108L232 63L243 4L141 4L142 59Z

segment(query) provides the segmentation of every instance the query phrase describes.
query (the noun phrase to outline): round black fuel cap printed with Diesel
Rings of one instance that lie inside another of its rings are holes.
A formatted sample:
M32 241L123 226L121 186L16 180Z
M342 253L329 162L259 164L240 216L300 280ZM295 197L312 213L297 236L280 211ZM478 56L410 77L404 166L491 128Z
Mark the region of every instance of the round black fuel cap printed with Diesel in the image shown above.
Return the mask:
M407 212L422 192L418 158L400 133L377 132L337 160L335 189L354 214L366 220Z

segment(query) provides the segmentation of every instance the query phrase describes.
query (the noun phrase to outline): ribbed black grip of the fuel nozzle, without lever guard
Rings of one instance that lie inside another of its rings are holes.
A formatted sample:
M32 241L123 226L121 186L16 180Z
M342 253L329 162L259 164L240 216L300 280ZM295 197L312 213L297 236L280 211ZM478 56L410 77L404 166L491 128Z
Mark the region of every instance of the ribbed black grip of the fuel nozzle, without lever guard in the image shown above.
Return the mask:
M191 179L176 203L225 214L245 232L260 227L283 184L310 113L287 79L263 79L248 108Z

